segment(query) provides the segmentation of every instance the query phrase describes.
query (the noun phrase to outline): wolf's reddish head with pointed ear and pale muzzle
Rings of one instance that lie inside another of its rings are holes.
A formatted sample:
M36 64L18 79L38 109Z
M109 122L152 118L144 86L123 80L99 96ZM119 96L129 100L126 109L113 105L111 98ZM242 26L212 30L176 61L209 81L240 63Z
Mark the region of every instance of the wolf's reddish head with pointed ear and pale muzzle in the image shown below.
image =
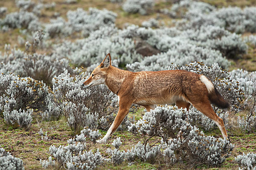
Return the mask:
M105 84L106 75L108 74L109 67L111 66L111 56L108 55L98 65L82 86L85 88L93 87L95 85Z

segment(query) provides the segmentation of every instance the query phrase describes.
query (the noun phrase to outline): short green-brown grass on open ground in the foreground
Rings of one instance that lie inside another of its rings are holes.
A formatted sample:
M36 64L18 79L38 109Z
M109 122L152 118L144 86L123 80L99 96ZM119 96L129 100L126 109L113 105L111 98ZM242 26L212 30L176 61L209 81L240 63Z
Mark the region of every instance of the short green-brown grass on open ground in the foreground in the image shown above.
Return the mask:
M141 118L144 114L144 109L139 109L135 115L137 118ZM49 141L44 141L38 134L39 129L42 128L44 132L47 132ZM100 130L102 136L105 135L105 130ZM209 130L205 132L207 135L212 135L217 138L221 137L221 133L218 128ZM116 170L148 170L148 169L179 169L188 168L189 169L207 169L207 170L225 170L225 169L238 169L238 164L234 161L234 158L242 153L256 152L256 134L255 133L242 133L238 129L228 129L228 134L230 135L230 141L234 144L234 150L232 154L220 167L208 167L207 165L200 165L194 167L186 162L179 164L161 164L160 162L155 162L154 164L149 164L137 160L134 164L128 164L127 161L116 166L110 162L102 164L97 169L116 169ZM64 118L58 121L52 122L33 122L33 125L29 130L23 130L20 128L8 130L7 125L4 125L3 118L0 118L0 147L3 147L6 151L12 153L13 156L23 160L25 164L25 169L43 169L40 165L40 159L46 160L50 156L49 147L55 145L56 147L60 145L67 145L67 140L75 137L76 133L70 131ZM107 148L114 149L112 142L116 137L121 137L122 145L120 150L127 151L134 147L139 141L143 142L143 137L136 136L133 133L124 131L117 131L114 133L113 137L106 144L96 144L94 150L99 148L102 156L108 156L105 152ZM149 143L156 142L160 140L159 137L155 137L149 140Z

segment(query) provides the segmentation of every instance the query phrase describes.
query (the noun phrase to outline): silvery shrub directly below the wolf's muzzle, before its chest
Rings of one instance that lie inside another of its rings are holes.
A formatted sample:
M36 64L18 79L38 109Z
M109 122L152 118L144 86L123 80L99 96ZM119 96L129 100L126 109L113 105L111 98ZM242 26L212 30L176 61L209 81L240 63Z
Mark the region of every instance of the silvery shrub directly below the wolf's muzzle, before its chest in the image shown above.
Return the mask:
M64 114L72 130L81 127L98 127L99 121L106 121L105 116L116 111L116 95L104 85L85 89L81 84L87 79L87 72L76 68L72 77L66 69L58 77L52 79L52 94L49 101L58 108L59 114ZM100 119L101 118L101 119Z

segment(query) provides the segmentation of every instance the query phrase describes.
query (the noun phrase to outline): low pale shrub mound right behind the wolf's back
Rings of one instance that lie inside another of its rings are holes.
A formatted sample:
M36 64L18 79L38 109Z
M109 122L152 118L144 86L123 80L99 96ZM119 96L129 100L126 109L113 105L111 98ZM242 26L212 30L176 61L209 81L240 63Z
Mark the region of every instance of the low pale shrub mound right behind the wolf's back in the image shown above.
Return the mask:
M126 67L130 71L160 71L166 70L167 66L172 63L185 65L191 61L201 61L208 65L218 62L223 68L227 68L229 65L227 59L222 57L219 51L191 44L180 44L167 52L145 57L141 62L127 64Z

